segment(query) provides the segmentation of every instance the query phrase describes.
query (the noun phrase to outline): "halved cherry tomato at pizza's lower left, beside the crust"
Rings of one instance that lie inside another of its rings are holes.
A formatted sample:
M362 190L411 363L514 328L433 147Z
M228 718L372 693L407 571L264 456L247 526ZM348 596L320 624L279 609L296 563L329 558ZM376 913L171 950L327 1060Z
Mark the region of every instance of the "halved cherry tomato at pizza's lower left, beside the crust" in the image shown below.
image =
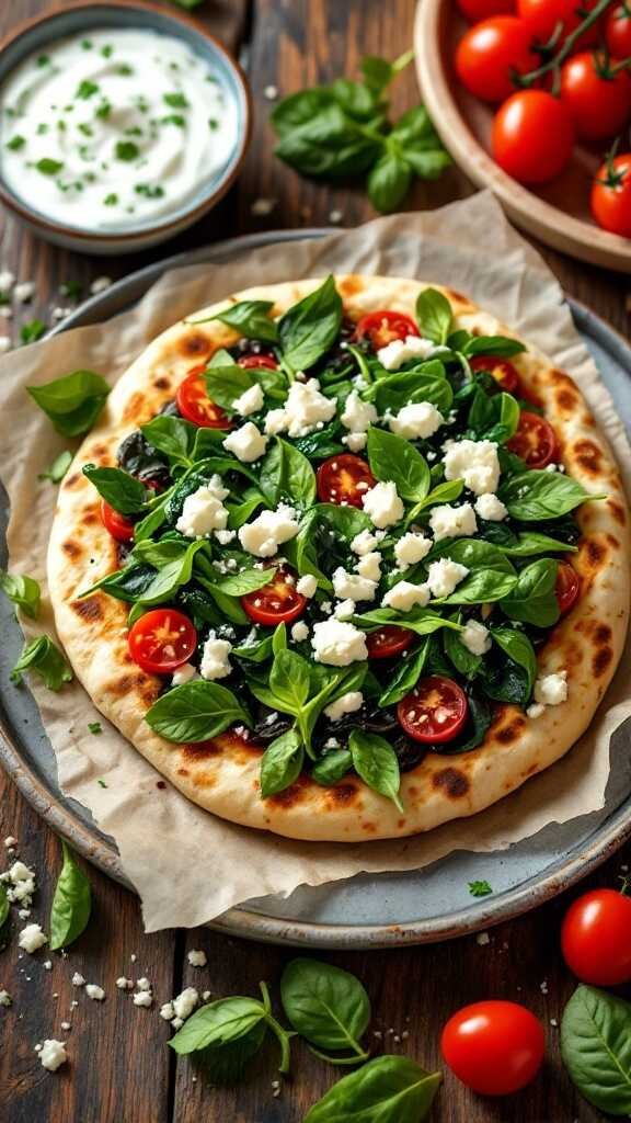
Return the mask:
M129 629L129 654L143 670L166 675L188 663L198 646L198 633L183 612L153 609Z

